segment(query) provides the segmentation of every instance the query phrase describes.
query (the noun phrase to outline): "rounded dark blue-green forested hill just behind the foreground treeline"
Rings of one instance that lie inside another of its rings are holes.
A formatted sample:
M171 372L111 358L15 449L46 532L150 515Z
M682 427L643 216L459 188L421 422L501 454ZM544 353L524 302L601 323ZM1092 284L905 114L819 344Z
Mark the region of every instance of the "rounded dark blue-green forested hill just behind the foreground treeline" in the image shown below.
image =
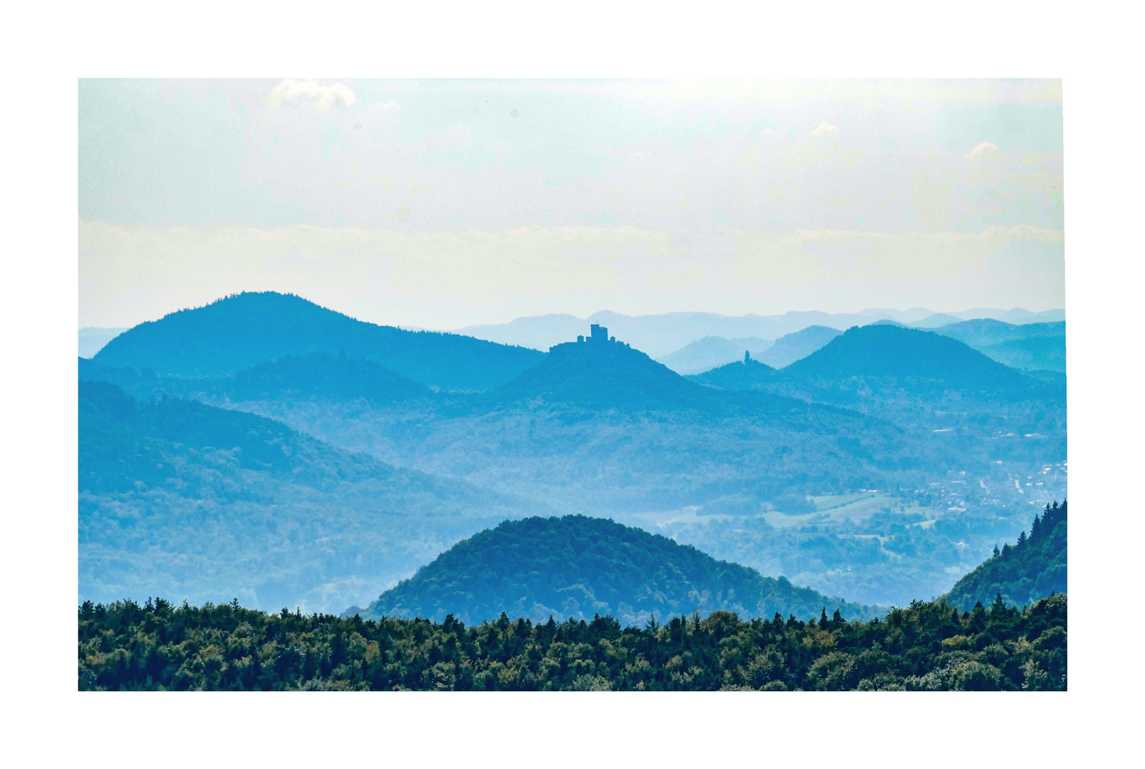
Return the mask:
M824 608L856 619L882 613L717 561L641 529L570 515L482 531L382 593L362 613L437 621L452 615L467 623L502 612L535 621L599 613L632 625L653 616L716 610L808 618Z

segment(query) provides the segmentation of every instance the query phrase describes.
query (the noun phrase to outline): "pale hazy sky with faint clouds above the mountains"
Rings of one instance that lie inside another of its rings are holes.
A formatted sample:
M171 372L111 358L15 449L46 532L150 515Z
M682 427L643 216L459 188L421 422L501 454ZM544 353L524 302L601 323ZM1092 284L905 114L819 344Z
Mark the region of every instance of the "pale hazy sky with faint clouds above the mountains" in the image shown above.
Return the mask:
M1065 307L1059 80L81 80L79 322Z

